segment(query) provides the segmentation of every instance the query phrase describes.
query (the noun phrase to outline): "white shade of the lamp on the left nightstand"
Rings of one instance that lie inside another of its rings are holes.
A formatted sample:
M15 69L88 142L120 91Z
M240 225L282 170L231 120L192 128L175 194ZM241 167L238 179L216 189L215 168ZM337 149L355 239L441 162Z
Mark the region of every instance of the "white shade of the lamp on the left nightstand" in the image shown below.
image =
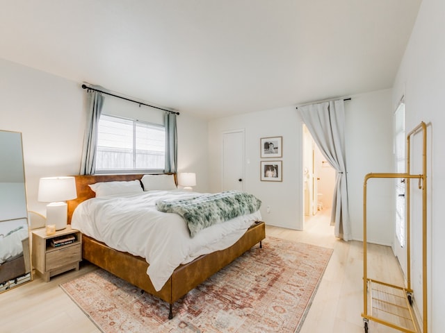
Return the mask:
M72 200L77 197L74 177L40 178L38 200L44 203Z

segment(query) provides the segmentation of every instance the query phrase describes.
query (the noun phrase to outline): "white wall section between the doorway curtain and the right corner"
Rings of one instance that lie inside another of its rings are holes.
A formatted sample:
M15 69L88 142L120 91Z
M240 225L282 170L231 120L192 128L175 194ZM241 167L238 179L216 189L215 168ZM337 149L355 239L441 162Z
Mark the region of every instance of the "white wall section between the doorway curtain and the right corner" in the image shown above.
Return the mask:
M367 173L394 172L391 89L352 96L345 103L346 168L353 239L363 239L363 185ZM391 245L394 234L394 182L369 180L368 241Z

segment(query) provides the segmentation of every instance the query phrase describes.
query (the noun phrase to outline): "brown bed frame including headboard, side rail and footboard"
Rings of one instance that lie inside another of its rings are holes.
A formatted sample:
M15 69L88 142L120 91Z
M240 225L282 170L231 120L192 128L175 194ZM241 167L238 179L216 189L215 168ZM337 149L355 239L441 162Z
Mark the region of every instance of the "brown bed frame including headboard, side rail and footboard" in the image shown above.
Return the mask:
M88 186L95 182L109 182L114 180L140 180L143 175L97 175L97 176L74 176L76 179L77 198L69 200L68 223L74 209L83 200L94 198L95 193ZM176 175L175 175L176 179ZM123 253L106 244L82 235L82 257L92 264L134 284L147 293L165 300L170 305L168 318L173 318L172 305L182 296L186 295L198 284L207 280L221 268L227 266L237 257L243 255L255 244L261 247L261 241L266 237L265 223L255 222L252 227L234 245L208 255L202 255L188 264L181 265L175 269L169 280L160 291L156 291L147 275L149 264L143 257L136 257L129 253Z

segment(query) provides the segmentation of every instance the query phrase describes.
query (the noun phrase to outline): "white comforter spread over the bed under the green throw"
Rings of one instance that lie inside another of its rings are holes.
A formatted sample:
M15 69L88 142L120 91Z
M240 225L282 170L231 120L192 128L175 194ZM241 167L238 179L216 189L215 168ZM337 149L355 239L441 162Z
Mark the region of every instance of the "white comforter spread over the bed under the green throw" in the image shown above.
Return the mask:
M181 216L159 212L154 206L159 199L197 195L178 189L92 198L76 208L71 225L111 248L144 257L149 263L147 274L159 291L177 266L232 246L254 221L261 220L258 211L212 225L191 238Z

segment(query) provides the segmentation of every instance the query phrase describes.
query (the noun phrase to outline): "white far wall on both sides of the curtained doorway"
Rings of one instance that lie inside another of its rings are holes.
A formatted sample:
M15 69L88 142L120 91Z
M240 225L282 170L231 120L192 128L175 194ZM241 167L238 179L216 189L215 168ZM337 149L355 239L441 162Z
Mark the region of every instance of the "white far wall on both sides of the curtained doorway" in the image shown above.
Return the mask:
M391 172L391 89L352 96L345 103L346 165L353 239L362 239L363 180L366 173ZM245 191L262 200L261 214L269 225L300 230L302 226L302 120L295 106L209 121L210 189L221 189L222 133L245 130ZM259 140L283 137L283 182L259 180ZM250 163L248 163L250 162ZM391 183L369 189L372 210L369 241L391 245L394 191ZM270 206L270 214L266 207Z

